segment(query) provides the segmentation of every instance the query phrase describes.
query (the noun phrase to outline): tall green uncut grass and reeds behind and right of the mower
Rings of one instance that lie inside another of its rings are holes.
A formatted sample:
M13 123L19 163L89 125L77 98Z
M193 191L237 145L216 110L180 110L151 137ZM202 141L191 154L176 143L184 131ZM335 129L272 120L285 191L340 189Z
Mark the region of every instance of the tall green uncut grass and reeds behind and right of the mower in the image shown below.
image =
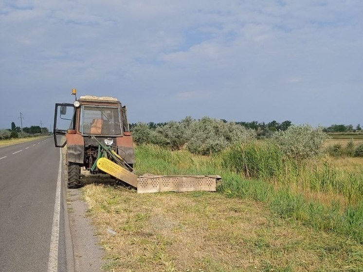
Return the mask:
M321 165L297 163L269 143L234 146L216 156L196 156L155 145L136 148L136 170L159 175L218 174L218 191L227 197L265 202L275 215L313 229L351 237L363 243L362 173L343 173L327 161ZM332 199L330 205L292 191L342 193L348 204Z

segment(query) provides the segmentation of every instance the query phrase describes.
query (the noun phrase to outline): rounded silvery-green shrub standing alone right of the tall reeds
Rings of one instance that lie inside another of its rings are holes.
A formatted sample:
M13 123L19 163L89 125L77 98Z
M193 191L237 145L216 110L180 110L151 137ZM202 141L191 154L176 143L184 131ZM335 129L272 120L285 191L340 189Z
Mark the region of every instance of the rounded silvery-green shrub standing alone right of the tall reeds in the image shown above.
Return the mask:
M322 127L303 125L277 131L272 138L288 157L303 160L322 154L328 137Z

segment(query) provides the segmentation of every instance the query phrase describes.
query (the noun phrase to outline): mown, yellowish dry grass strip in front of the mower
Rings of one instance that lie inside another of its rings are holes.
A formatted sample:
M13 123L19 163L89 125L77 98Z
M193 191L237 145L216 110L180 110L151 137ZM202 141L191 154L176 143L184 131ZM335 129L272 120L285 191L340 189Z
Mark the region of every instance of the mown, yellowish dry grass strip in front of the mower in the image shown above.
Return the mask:
M115 272L358 271L363 247L218 193L136 194L100 184L84 198ZM107 233L116 231L116 236Z

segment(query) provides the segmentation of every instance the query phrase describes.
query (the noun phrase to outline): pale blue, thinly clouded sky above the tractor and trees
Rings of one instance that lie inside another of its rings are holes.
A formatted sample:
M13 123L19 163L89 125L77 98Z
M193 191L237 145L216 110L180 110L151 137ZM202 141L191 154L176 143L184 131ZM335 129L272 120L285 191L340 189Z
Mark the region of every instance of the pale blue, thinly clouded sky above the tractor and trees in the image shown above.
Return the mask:
M130 123L363 125L363 1L1 0L0 128L73 88Z

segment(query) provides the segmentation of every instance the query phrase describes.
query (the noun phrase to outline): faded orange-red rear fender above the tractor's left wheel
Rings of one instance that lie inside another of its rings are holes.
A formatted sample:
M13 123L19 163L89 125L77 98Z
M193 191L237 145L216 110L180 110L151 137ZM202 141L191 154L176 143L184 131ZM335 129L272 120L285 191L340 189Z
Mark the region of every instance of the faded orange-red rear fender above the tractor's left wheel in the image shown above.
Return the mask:
M67 164L73 163L84 163L85 155L85 144L83 136L81 134L66 134L67 138Z

